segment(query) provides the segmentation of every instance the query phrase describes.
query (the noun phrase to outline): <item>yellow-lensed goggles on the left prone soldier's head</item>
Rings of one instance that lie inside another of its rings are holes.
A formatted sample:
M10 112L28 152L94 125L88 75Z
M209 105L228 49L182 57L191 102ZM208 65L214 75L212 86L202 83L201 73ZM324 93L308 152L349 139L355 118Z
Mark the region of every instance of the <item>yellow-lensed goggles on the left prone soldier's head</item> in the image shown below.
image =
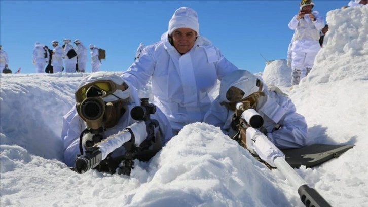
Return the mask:
M106 97L117 90L125 91L128 85L124 82L122 85L116 84L111 80L101 80L88 83L76 91L76 101L82 102L86 98Z

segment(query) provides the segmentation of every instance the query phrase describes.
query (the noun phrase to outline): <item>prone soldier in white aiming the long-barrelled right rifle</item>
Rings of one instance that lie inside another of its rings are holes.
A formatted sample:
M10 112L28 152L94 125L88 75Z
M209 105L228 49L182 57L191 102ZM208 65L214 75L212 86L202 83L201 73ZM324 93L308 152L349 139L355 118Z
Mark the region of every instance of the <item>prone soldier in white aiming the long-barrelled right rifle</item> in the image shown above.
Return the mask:
M266 135L280 149L299 148L309 144L305 118L296 113L291 99L276 86L268 88L261 79L244 70L234 71L223 78L219 95L206 113L204 122L220 127L226 135L233 137L238 132L238 128L234 128L238 121L234 119L235 106L245 100L249 101L250 108L258 112L264 120L261 128L247 129L247 148L255 154L263 155L261 158L268 157L270 160L265 161L271 166L272 156L283 154L277 149L271 149L270 152L274 154L270 155L257 150L264 148L253 143L256 136Z

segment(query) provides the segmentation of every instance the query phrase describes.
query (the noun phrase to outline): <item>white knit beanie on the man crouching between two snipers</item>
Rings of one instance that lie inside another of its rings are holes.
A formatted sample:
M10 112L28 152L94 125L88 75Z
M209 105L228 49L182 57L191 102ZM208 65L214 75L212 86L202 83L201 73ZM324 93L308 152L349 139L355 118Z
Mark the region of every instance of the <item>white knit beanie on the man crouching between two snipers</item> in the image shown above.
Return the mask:
M180 7L172 15L169 21L169 34L178 28L190 28L199 35L199 23L197 12L189 7Z

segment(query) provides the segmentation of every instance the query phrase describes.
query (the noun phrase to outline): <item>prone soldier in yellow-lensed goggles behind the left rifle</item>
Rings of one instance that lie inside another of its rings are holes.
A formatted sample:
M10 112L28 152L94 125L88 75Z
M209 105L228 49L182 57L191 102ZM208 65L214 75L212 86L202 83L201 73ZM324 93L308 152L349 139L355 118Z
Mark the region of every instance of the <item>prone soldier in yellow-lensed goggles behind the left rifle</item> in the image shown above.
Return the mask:
M136 123L138 120L134 120L130 114L136 106L140 106L136 89L127 85L120 76L112 72L96 72L83 78L76 91L76 104L63 117L61 138L64 142L65 164L74 166L77 155L98 145L107 137L114 138ZM161 137L160 143L164 145L171 139L172 130L165 115L160 109L155 109L156 112L150 114L159 123L157 137ZM124 153L124 146L119 146L111 157L114 159ZM111 167L103 164L98 169L111 172Z

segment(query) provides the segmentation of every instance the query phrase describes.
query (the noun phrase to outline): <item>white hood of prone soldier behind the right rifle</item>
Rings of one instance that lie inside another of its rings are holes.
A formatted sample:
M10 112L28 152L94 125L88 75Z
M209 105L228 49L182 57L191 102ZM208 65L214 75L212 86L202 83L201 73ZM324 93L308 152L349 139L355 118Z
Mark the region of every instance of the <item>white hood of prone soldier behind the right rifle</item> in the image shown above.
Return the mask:
M252 93L258 92L260 87L257 86L257 81L261 80L259 80L254 74L245 70L236 70L227 74L220 83L220 101L229 102L226 98L226 93L232 86L237 87L244 92L241 99L251 95Z

